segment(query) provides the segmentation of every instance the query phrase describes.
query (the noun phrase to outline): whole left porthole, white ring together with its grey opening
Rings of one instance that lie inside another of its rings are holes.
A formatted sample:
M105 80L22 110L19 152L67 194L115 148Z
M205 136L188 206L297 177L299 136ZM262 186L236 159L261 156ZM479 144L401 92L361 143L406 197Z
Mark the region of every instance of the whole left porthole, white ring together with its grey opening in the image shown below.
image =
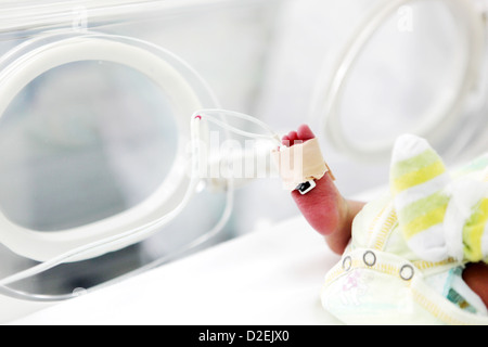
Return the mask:
M113 85L104 85L103 75ZM191 117L218 107L208 86L172 53L91 33L49 34L14 48L0 60L0 132L7 133L0 151L23 134L29 142L2 164L10 170L0 178L10 182L0 184L8 192L0 198L0 242L37 261L90 259L138 243L174 219L194 193ZM27 195L9 200L23 189ZM130 198L120 204L126 193ZM110 209L97 207L103 200L114 201ZM53 219L36 219L27 206L16 206L22 202L51 208Z

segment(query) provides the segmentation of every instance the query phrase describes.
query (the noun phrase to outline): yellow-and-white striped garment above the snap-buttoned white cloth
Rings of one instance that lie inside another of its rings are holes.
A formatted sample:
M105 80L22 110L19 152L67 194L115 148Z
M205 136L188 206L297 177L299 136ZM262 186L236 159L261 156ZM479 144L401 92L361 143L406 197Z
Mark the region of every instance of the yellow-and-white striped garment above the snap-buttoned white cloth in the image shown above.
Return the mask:
M488 259L488 171L451 178L427 141L401 137L393 154L390 185L400 228L421 258Z

